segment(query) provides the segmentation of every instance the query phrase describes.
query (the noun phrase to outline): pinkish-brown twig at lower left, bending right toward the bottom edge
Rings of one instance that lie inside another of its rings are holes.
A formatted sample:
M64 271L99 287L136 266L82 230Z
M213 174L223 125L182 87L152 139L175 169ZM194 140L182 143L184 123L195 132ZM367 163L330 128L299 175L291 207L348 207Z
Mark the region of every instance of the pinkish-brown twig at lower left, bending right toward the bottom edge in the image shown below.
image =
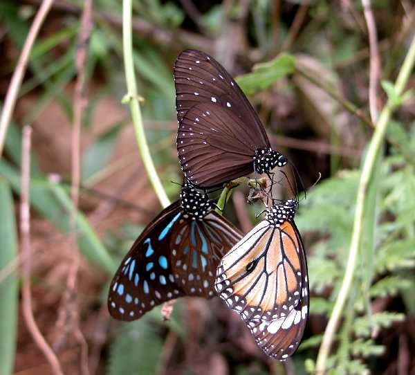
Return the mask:
M26 262L21 270L21 304L23 316L28 327L28 331L33 337L35 344L42 350L46 360L52 367L53 374L62 374L62 369L57 356L46 342L39 327L35 322L32 309L32 293L30 292L30 268L31 264L31 243L30 243L30 141L32 128L25 126L23 129L23 147L21 156L21 203L20 203L20 236L21 236L21 255Z

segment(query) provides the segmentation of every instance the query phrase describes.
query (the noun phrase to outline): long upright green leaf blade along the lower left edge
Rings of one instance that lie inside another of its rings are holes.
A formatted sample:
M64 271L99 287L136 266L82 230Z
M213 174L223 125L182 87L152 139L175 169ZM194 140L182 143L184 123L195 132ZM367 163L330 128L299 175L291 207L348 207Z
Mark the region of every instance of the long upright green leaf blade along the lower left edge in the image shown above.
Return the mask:
M0 270L17 258L17 230L10 185L0 176ZM19 289L13 271L0 281L0 374L12 374L17 342Z

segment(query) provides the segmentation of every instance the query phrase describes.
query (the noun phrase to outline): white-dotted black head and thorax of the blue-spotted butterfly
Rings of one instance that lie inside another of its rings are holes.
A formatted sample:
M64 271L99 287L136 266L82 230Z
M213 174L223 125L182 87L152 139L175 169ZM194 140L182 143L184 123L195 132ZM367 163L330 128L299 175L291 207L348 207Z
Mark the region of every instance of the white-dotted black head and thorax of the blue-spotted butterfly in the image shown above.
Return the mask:
M212 201L209 196L202 194L189 183L185 183L182 187L180 204L184 214L194 220L202 220L212 210Z

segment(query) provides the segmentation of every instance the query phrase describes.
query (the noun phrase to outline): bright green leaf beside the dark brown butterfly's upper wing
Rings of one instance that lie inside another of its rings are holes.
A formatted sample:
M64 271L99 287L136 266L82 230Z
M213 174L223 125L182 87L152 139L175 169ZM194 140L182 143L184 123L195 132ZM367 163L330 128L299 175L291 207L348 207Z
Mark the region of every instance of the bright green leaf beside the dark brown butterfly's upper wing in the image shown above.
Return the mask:
M295 72L295 57L282 53L274 60L254 66L252 73L237 77L236 81L246 95L267 89L282 77Z

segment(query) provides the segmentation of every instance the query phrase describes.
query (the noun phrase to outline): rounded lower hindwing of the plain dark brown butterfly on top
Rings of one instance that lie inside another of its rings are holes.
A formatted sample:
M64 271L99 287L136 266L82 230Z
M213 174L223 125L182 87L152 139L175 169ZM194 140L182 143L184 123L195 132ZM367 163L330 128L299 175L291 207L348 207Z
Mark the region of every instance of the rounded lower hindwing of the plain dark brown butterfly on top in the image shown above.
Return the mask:
M254 170L255 143L244 122L211 102L187 111L178 126L178 159L194 185L212 187Z

